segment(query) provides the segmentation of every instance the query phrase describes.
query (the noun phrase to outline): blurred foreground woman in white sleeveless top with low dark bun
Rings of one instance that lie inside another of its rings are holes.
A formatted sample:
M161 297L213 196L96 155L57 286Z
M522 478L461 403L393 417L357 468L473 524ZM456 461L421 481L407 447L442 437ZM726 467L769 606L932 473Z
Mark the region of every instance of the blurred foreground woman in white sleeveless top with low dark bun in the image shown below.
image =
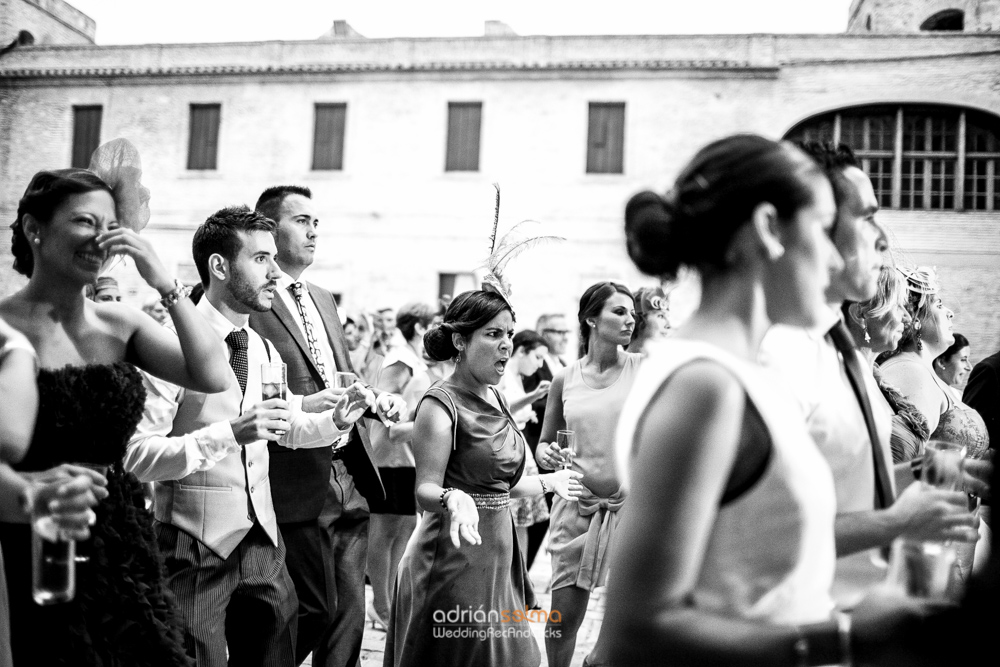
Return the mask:
M888 664L921 644L893 634L905 613L882 617L882 601L860 603L853 623L831 617L833 477L794 399L757 363L772 323L822 316L843 265L835 217L822 170L756 135L709 144L671 192L626 207L636 266L660 279L695 269L702 296L647 346L619 418L629 507L585 664Z

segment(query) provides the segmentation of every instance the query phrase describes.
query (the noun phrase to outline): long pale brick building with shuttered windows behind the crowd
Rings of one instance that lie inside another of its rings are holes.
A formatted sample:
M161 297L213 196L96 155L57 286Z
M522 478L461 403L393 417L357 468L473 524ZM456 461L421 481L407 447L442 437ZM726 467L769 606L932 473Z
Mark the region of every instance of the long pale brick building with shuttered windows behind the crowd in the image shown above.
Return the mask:
M939 121L951 144L984 123L1000 136L1000 32L990 25L440 39L343 29L314 42L17 47L0 56L0 219L14 219L35 171L70 166L96 114L100 140L127 137L142 153L153 195L143 233L182 276L196 279L190 239L208 214L299 183L322 220L312 280L348 307L375 308L432 302L471 282L497 182L502 227L530 218L568 239L511 266L530 325L541 312L575 313L596 280L648 284L624 252L624 202L665 189L706 142L822 128L868 142L873 123L890 118L900 150L870 152L888 170L882 220L909 259L939 267L978 359L1000 348L1000 157L993 144L931 155L906 142L925 117L928 141ZM934 183L921 185L919 205L906 190L917 187L917 158ZM950 185L933 181L938 168L951 170ZM963 194L969 178L979 180ZM4 239L0 294L19 284L9 267ZM143 295L136 276L115 271Z

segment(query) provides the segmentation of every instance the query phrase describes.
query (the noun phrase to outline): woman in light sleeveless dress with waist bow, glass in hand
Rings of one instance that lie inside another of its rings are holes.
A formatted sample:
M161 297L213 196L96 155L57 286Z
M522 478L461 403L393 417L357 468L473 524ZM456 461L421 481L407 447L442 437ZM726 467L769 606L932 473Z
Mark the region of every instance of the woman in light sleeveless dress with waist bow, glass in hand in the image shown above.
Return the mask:
M601 282L584 290L577 312L580 359L552 379L535 457L545 469L569 467L583 475L576 503L559 498L549 516L552 608L545 652L550 667L569 667L591 593L604 586L625 491L615 470L614 434L639 370L641 356L625 351L635 327L632 292ZM573 431L576 451L560 449L557 433Z

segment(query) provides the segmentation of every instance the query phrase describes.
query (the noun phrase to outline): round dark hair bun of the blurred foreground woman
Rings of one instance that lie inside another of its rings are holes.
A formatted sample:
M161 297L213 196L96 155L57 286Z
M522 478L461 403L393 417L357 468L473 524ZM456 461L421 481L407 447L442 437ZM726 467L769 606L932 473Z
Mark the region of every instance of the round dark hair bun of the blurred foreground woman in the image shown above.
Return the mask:
M677 273L680 260L672 243L677 217L673 205L650 190L633 195L625 205L626 247L643 273L667 277Z

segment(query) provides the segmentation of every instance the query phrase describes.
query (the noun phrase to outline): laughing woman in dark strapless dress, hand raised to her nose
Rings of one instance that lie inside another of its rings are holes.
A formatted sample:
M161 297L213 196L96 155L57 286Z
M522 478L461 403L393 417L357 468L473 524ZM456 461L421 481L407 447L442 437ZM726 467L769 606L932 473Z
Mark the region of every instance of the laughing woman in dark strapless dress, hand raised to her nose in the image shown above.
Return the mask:
M152 514L122 458L145 405L137 369L212 393L232 377L226 356L153 245L118 219L111 188L92 172L35 174L11 229L14 267L28 282L0 301L0 317L28 338L40 367L38 420L15 467L38 480L50 478L53 468L92 474L108 492L95 508L92 539L81 545L88 560L77 563L76 595L68 603L40 606L32 599L27 514L0 524L14 662L187 665ZM164 297L176 334L138 309L85 298L84 287L114 257L130 258ZM45 641L35 641L42 629Z

